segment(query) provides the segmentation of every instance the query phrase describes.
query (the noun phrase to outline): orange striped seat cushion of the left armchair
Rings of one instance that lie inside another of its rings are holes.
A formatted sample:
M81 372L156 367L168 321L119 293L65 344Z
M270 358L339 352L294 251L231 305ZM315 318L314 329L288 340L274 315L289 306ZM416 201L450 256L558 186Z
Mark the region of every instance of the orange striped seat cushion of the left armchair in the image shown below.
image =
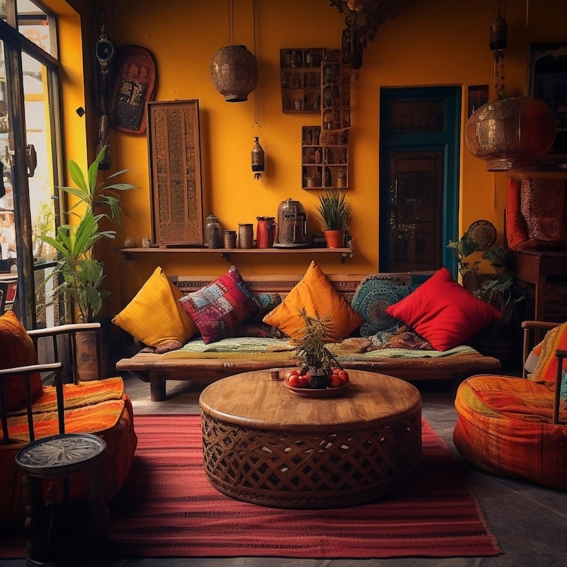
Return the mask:
M122 378L107 378L76 384L65 384L65 431L93 433L106 442L104 462L104 500L110 502L122 487L132 465L137 445L132 404ZM54 386L42 386L33 404L36 439L58 433ZM16 453L29 442L27 417L23 410L8 417L10 444L0 444L0 524L22 522L25 517L25 494L22 475L16 467ZM0 432L0 443L3 435ZM85 479L71 483L71 497L81 498ZM58 491L57 487L54 487Z

